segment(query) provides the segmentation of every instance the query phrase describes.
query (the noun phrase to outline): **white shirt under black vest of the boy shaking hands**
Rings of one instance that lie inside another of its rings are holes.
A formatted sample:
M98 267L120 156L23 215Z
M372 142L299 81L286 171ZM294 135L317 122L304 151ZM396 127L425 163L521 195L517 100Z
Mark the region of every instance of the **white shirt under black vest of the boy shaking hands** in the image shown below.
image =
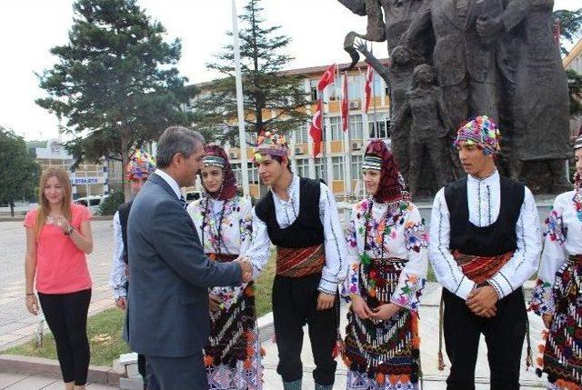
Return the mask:
M282 229L292 225L299 215L299 176L293 175L288 190L288 200L280 199L273 192L276 221ZM324 226L326 265L322 271L319 291L326 294L336 294L337 286L346 279L346 240L337 215L337 205L334 195L324 185L320 184L319 219ZM256 216L253 208L253 243L246 252L246 257L253 263L256 278L270 256L271 240L266 230L266 223Z

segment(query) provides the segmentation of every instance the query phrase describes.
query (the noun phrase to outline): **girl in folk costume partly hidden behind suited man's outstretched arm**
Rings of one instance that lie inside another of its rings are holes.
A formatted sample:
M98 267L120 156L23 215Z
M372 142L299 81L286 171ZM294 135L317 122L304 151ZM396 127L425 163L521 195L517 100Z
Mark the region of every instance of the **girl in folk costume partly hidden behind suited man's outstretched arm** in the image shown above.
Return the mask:
M244 255L252 235L252 205L236 195L236 177L225 150L206 145L201 170L206 196L187 212L206 254L215 261ZM256 390L263 385L256 327L255 286L214 287L209 292L210 337L205 365L210 389Z

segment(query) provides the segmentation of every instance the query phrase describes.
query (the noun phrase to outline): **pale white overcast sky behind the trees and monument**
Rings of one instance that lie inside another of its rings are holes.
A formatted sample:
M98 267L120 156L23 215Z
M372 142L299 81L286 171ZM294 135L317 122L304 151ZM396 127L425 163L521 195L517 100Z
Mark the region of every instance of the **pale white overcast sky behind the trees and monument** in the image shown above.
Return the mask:
M556 0L555 9L576 9L579 0ZM177 65L189 83L212 80L206 63L229 43L231 0L137 0L146 14L166 27L166 41L182 40ZM56 138L55 115L35 105L45 97L36 74L51 68L49 50L65 45L73 24L72 0L0 0L0 125L26 140ZM236 0L238 13L245 0ZM295 57L288 68L349 62L343 51L346 33L366 31L366 17L352 14L336 0L263 0L266 25L281 25L291 37L286 54ZM386 56L386 45L374 44Z

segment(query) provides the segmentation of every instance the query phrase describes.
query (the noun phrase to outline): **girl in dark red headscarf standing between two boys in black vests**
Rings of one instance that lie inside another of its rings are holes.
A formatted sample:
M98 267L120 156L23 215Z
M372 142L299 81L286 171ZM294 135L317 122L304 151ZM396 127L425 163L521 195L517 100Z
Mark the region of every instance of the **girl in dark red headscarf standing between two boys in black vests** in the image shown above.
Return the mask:
M347 228L344 361L351 390L417 389L418 306L426 282L427 236L410 203L394 155L372 140L362 163L369 195L352 209Z

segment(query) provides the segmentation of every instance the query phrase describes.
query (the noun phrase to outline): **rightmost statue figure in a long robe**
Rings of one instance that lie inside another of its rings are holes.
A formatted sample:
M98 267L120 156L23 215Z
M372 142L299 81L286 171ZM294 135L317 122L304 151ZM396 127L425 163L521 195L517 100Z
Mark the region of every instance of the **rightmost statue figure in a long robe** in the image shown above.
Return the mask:
M546 183L531 186L563 192L571 187L565 169L571 156L567 75L553 34L554 1L530 1L522 34L500 50L500 64L514 64L508 72L515 85L507 140L511 175L527 182L545 176ZM525 165L529 177L522 175Z

